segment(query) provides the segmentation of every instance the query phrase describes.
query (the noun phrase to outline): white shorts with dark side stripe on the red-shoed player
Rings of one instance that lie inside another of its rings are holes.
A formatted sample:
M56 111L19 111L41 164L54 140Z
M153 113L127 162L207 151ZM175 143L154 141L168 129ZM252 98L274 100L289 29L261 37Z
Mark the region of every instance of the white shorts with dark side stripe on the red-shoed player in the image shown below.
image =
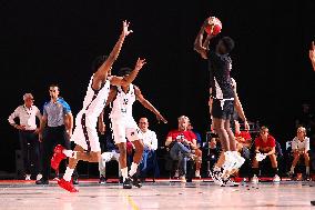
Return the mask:
M81 146L84 150L93 152L101 151L95 120L90 119L84 113L78 113L71 141Z

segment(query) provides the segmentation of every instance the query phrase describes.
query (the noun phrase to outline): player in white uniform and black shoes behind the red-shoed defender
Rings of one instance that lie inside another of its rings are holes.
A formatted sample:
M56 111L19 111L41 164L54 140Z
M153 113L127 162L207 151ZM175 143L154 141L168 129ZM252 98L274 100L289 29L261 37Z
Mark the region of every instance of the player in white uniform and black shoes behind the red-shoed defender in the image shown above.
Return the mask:
M130 72L130 68L122 68L119 76L126 77ZM132 183L139 188L141 187L135 172L142 159L143 143L140 129L132 117L132 104L135 100L139 100L143 107L152 111L159 121L163 121L164 123L167 122L164 117L142 96L136 86L123 84L121 87L111 88L106 104L113 102L110 118L112 121L114 142L120 151L120 166L124 189L131 189ZM100 123L103 123L102 114L100 116ZM126 138L135 148L129 174L126 167Z

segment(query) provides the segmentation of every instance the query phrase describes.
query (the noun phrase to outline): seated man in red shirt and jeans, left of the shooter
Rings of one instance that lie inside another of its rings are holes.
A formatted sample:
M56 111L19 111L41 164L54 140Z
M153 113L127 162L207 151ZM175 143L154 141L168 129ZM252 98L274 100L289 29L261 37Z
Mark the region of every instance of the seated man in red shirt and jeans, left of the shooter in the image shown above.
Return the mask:
M186 162L192 157L191 149L196 149L196 137L187 130L189 118L181 116L179 128L169 132L165 146L170 148L170 156L179 161L179 173L182 182L186 182Z

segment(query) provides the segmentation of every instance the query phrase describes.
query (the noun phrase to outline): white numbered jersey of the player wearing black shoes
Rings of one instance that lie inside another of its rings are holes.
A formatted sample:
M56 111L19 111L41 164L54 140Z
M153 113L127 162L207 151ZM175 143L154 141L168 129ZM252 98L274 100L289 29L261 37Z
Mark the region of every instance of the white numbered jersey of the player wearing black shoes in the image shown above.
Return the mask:
M135 101L133 84L129 86L125 93L121 87L118 87L116 98L113 101L113 108L110 114L111 119L132 118L132 104Z

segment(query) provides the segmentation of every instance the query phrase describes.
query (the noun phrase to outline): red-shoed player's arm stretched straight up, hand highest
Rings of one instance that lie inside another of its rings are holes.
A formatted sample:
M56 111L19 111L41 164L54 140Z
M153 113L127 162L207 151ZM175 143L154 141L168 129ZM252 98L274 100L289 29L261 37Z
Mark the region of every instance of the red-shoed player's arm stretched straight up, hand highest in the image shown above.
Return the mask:
M118 59L122 44L126 36L129 36L132 30L129 30L130 22L123 21L123 29L121 36L115 43L113 50L111 51L109 58L104 61L104 63L98 69L93 78L93 89L99 90L102 82L106 79L108 72L111 70L114 61Z

